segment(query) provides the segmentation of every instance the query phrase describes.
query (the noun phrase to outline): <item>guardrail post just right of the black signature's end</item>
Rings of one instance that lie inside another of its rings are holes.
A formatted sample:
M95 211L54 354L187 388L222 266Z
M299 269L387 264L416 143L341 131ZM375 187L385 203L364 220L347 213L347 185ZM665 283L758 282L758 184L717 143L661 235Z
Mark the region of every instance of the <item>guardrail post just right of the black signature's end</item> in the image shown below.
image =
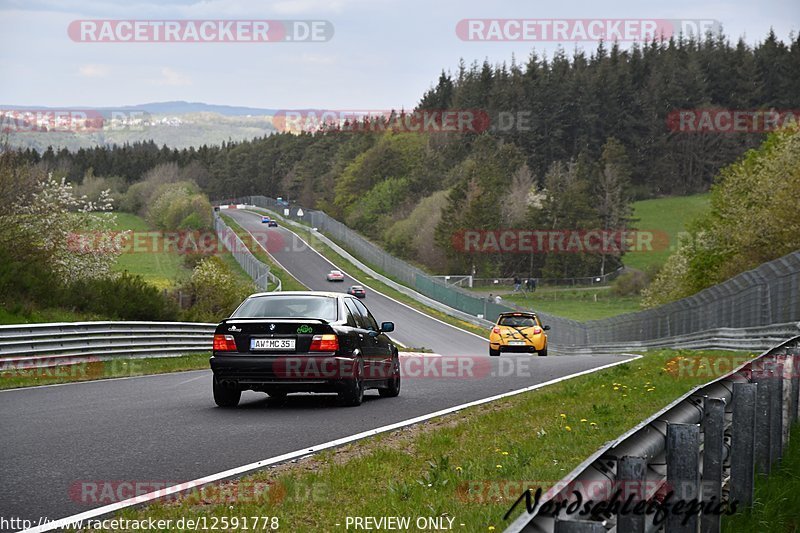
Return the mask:
M756 383L733 384L730 499L753 503L756 443Z

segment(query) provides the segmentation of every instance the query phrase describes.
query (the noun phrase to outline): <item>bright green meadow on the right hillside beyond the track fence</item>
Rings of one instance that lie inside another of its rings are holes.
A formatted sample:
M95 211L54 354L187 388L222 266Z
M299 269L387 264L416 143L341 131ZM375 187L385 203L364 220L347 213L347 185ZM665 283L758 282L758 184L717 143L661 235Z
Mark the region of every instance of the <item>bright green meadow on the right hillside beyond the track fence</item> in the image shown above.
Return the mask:
M661 250L626 253L625 266L647 270L663 265L675 250L678 234L686 229L686 224L709 210L710 198L710 194L704 193L634 202L633 215L638 220L633 226L643 231L664 232L668 246Z

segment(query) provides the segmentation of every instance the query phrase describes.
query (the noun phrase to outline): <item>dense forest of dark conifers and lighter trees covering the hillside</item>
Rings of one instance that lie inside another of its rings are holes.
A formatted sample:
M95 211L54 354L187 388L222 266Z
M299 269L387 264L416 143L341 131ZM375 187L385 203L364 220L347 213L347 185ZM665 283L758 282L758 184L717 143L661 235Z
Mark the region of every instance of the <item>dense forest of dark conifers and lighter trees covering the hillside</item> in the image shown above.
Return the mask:
M577 276L620 258L591 254L476 257L453 246L464 229L624 228L632 199L708 190L760 133L675 131L684 109L800 108L800 36L755 46L722 35L590 54L535 52L522 62L442 72L418 109L478 109L482 133L391 130L281 133L184 150L152 142L26 151L80 183L87 173L130 185L177 163L211 198L284 196L324 209L392 252L440 272ZM506 127L501 117L528 117ZM530 261L530 262L529 262Z

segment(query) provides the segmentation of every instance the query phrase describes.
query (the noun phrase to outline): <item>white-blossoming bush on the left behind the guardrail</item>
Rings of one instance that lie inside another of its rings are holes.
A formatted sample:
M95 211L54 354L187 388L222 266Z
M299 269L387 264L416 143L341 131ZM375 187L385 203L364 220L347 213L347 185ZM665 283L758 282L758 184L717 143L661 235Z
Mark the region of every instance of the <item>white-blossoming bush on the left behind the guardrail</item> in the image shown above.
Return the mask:
M111 231L116 221L113 203L109 190L96 200L77 197L66 179L48 174L11 212L29 241L26 245L43 250L48 266L69 284L108 276L122 252L125 232Z

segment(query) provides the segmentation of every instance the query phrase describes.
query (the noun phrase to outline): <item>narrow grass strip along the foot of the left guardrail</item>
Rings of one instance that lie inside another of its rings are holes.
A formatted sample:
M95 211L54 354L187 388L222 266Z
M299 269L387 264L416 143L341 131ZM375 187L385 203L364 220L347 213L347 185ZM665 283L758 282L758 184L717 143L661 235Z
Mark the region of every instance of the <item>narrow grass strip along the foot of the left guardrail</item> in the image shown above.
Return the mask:
M200 353L147 359L120 357L53 368L4 370L0 372L0 389L199 370L209 368L210 355L210 353Z

